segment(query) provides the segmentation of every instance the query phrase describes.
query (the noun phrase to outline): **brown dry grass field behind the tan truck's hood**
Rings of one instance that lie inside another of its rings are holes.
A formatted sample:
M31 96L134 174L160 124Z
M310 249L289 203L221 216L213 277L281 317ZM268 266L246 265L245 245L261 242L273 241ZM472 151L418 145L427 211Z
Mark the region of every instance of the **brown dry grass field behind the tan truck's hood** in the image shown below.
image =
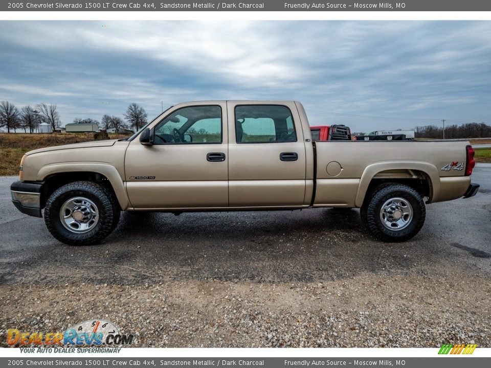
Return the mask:
M124 134L109 134L110 139L126 138ZM93 133L6 134L0 133L0 175L17 175L24 153L50 146L94 141Z

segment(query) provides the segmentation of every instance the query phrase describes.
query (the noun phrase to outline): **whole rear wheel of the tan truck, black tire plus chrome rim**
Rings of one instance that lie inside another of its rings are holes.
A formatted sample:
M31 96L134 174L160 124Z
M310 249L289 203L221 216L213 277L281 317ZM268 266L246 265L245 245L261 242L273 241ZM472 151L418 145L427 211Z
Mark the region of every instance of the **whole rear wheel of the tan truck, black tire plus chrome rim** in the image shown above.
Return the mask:
M375 189L360 211L369 231L386 242L414 237L425 223L426 207L413 188L391 183Z

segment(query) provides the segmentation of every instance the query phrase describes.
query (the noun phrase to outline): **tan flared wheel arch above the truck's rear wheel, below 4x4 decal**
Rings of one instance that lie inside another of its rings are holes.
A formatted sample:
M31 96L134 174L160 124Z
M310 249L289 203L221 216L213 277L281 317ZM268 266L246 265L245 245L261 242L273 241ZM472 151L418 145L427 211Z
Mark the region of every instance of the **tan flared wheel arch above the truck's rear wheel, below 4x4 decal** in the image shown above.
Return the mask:
M439 174L434 165L414 161L376 163L367 166L360 178L355 206L361 207L370 189L383 182L406 184L427 196L427 203L431 203L440 192Z

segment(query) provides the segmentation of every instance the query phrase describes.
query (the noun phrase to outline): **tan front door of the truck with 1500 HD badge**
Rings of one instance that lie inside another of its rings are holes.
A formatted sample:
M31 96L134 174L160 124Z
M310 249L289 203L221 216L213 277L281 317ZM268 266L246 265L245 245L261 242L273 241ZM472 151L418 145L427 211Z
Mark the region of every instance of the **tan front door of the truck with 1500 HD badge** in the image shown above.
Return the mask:
M134 208L228 206L226 111L225 102L177 105L149 126L153 145L131 141L125 177Z

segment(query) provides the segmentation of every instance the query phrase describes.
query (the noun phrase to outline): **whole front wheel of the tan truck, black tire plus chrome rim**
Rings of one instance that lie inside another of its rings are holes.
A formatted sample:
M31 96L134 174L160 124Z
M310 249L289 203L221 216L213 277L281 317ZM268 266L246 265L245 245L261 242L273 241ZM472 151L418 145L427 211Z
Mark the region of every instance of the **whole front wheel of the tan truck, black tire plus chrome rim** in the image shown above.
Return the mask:
M62 243L91 245L118 225L120 211L111 193L92 181L74 181L57 189L46 202L44 222Z

